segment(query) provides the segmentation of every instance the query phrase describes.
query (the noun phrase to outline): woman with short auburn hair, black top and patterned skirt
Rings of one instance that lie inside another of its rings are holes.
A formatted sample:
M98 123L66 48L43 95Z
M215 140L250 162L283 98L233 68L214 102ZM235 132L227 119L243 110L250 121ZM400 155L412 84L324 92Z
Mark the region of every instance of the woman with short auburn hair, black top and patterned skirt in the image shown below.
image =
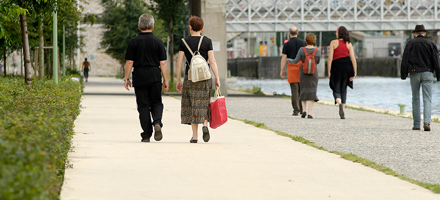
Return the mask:
M211 100L212 91L212 79L210 78L209 70L205 73L209 73L209 78L204 80L199 80L199 76L192 75L188 79L188 75L195 74L190 69L191 58L197 54L197 52L206 60L209 60L210 69L215 76L215 88L220 87L220 79L218 76L217 63L214 58L214 51L212 48L212 40L208 37L201 36L203 31L203 20L198 16L191 16L189 18L189 31L190 36L180 40L177 55L176 64L176 74L177 82L175 89L182 93L181 99L181 123L190 124L192 127L192 138L189 140L190 143L197 143L198 140L198 124L202 125L203 141L209 141L209 130L207 123L211 121L211 110L209 103ZM188 49L189 48L189 49ZM185 56L187 62L185 67L185 75L183 83L181 81L181 71L183 56ZM188 74L188 71L191 72ZM203 78L200 78L203 79Z

